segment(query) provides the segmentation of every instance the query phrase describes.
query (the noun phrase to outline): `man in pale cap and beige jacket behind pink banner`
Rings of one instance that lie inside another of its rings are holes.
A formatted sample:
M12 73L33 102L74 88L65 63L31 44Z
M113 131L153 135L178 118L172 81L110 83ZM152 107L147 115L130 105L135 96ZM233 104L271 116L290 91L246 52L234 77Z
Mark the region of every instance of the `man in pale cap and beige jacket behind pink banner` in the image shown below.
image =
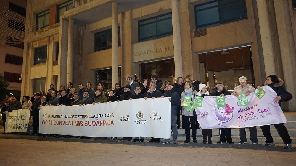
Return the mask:
M254 91L255 91L255 88L247 83L247 78L245 76L242 76L239 78L239 86L234 88L232 94L235 97L239 96L239 94L241 94L241 93L244 93L246 96L248 96L250 93L252 93ZM257 128L256 127L249 127L249 130L250 130L252 144L254 144L254 145L258 144ZM239 144L246 144L247 143L245 128L239 128L239 138L240 138Z

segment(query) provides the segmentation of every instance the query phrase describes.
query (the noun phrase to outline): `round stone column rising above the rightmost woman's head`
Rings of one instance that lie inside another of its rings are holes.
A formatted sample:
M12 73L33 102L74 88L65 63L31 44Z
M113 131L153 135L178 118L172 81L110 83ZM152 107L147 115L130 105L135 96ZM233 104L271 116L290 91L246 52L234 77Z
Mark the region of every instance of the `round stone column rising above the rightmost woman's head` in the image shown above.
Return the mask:
M276 74L266 0L257 0L259 28L266 76Z

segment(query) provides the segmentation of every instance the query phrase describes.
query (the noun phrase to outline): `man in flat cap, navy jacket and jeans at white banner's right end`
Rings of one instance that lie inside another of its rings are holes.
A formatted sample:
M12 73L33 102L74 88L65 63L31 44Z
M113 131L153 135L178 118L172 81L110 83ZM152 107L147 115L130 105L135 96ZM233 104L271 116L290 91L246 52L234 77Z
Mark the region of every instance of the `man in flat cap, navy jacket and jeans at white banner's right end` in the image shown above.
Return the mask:
M162 94L161 98L170 97L168 100L170 101L170 108L171 108L171 122L170 125L172 126L173 131L173 142L172 144L177 144L177 106L181 106L180 96L177 92L173 90L172 83L165 84L165 93ZM163 144L170 143L170 139L165 139Z

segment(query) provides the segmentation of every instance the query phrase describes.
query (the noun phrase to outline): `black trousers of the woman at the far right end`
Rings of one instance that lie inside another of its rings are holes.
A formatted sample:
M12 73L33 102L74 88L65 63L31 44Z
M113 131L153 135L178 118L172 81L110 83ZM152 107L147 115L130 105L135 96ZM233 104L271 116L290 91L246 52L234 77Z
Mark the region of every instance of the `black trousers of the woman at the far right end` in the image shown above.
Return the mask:
M279 136L281 136L281 138L283 139L285 144L289 144L292 142L292 139L288 133L288 130L286 128L286 126L282 123L280 124L274 124L274 127L277 129ZM270 126L269 125L265 125L265 126L260 126L260 128L262 129L262 133L264 135L264 137L266 138L266 143L271 143L274 141L274 139L272 138L271 134L270 134Z

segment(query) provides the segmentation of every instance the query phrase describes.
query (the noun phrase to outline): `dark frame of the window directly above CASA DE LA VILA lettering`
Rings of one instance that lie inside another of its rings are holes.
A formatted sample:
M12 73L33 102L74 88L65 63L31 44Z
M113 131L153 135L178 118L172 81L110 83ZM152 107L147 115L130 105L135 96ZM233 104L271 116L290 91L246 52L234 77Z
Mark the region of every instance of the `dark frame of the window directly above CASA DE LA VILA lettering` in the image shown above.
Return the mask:
M165 15L169 15L169 14L172 14L172 12L161 14L161 15L158 15L158 16L155 16L155 17L150 17L150 18L147 18L147 19L143 19L143 20L138 21L138 42L144 42L144 41L148 41L148 40L154 40L154 39L159 39L159 38L162 38L162 37L167 37L167 36L173 35L173 30L171 32L169 32L169 33L167 32L167 33L158 34L158 32L157 32L158 31L158 29L157 29L157 22L160 22L160 21L163 21L163 20L167 20L167 19L172 19L172 17L164 18L164 19L160 19L160 20L158 20L157 18L158 17L165 16ZM154 19L154 18L155 18L155 21L140 25L141 22L147 21L149 19ZM141 26L145 26L145 25L149 25L149 24L153 24L153 23L156 23L156 35L150 36L150 37L141 38L141 36L140 36L140 33L141 33L140 32L140 28L141 28ZM164 35L167 35L167 36L164 36ZM156 37L156 38L154 38L154 37Z

